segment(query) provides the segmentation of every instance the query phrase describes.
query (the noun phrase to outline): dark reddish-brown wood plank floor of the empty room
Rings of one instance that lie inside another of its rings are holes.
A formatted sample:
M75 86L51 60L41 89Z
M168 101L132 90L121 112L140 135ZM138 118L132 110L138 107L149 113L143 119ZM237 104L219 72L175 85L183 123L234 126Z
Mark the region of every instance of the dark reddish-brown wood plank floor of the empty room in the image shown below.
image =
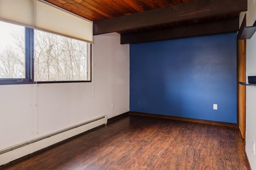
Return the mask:
M4 170L247 170L238 129L128 115Z

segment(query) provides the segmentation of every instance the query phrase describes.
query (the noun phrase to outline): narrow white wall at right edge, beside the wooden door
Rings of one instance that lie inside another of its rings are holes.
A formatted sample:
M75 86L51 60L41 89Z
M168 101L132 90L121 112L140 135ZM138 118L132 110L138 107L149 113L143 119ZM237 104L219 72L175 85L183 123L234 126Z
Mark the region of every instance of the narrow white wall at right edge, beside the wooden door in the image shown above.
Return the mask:
M246 26L256 20L256 0L248 0ZM256 33L246 40L246 77L256 76ZM246 80L248 82L248 80ZM252 152L252 141L256 142L256 86L246 86L246 154L252 170L256 170L256 155Z

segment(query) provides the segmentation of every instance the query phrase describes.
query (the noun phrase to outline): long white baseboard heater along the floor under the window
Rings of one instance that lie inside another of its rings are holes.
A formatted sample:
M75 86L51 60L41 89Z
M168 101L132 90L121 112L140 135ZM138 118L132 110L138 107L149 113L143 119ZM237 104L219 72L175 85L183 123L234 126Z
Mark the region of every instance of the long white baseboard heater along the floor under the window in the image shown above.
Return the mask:
M78 125L74 125L72 127L68 127L48 135L44 135L37 139L27 141L14 147L1 150L0 166L100 125L107 124L107 120L108 119L106 116L98 117L96 119L92 119L90 121L86 121L84 123L80 123Z

